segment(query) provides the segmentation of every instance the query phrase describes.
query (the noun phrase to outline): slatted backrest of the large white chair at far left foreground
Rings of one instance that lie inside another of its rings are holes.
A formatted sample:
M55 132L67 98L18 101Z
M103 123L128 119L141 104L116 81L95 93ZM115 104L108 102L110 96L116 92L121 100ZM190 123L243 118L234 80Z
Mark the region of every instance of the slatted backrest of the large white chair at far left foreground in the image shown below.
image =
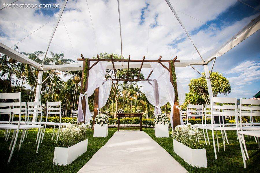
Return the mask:
M0 93L0 100L6 100L6 99L18 99L18 102L0 102L0 113L6 113L9 112L9 114L19 114L18 119L18 130L21 123L21 112L22 112L22 105L21 105L21 93ZM3 108L7 107L7 108ZM9 107L9 108L8 108ZM11 116L10 116L11 117ZM13 119L13 117L12 117ZM9 119L9 123L10 123Z

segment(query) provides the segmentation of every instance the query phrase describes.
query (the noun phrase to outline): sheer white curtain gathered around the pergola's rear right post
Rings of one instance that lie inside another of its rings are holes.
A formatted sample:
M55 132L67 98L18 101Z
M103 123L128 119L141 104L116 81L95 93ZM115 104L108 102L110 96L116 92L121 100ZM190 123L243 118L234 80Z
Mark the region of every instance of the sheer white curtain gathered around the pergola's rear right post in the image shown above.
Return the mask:
M156 91L155 91L156 84L155 84L155 82L156 82L156 79L153 79L152 81L145 81L145 80L141 81L142 86L143 86L144 95L146 96L149 103L151 103L153 106L155 106L154 115L161 114L160 107L164 106L168 102L167 98L166 98L166 93L164 92L164 90L159 88L159 86L158 86L158 100L156 101Z

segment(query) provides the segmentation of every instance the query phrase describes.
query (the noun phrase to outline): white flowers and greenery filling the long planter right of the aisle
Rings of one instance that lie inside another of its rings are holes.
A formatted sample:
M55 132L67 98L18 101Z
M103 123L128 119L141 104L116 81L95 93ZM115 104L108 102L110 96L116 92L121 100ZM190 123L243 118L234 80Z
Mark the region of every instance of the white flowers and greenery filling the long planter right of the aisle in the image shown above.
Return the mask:
M204 145L203 140L201 140L204 138L202 132L197 127L192 128L191 123L181 127L174 127L172 137L174 140L193 149L203 148Z

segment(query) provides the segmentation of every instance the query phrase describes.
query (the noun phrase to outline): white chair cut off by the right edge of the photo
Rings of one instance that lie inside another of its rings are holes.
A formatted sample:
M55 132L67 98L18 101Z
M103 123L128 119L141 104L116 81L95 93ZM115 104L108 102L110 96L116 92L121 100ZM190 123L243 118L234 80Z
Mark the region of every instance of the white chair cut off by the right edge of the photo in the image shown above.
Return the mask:
M248 106L247 106L248 105ZM257 106L252 106L257 105ZM239 135L239 145L242 153L242 158L244 162L244 168L246 168L246 156L249 159L249 155L246 148L246 142L244 135L248 136L254 136L257 138L258 147L260 148L260 126L254 125L253 121L248 123L248 126L243 126L244 123L242 123L242 117L250 117L250 120L253 120L254 117L260 116L260 100L252 100L252 99L240 99L240 105L239 105L239 115L237 116L236 120L236 129L237 134ZM243 148L243 145L244 148ZM244 152L245 150L245 152ZM246 155L245 155L246 153Z

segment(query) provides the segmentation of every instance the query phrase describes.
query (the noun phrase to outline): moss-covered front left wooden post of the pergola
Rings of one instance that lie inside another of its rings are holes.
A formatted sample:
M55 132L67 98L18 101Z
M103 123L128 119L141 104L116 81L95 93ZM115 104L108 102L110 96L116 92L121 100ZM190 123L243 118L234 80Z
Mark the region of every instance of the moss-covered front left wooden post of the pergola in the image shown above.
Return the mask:
M83 67L82 67L82 77L81 77L81 89L80 93L83 94L88 90L88 69L89 69L89 59L83 59ZM83 101L81 101L83 115L84 115L84 121L86 120L86 101L85 97L83 97Z

